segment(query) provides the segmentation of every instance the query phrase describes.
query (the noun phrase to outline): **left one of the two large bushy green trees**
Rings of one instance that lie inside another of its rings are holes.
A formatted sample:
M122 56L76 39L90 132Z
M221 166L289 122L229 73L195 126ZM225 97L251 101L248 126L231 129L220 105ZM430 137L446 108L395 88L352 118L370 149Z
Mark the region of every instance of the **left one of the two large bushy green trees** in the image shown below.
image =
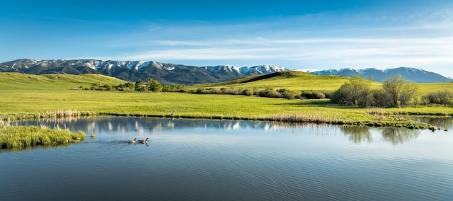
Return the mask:
M345 105L372 105L371 81L354 76L333 92L331 101Z

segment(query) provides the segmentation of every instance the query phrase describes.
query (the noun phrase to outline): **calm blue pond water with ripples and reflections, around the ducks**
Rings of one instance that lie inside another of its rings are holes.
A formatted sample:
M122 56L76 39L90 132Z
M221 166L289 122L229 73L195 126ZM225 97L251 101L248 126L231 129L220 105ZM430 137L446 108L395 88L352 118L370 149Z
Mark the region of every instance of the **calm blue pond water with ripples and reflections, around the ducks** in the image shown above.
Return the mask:
M134 117L18 122L96 137L0 151L0 200L453 200L453 122L435 123L442 130Z

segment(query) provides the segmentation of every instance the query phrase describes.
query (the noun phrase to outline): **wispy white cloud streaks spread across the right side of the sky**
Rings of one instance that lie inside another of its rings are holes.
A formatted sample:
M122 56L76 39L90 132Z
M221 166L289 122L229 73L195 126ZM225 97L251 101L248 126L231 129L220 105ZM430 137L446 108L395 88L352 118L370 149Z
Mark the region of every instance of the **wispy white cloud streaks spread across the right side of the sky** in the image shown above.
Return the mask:
M232 25L152 25L112 42L115 59L205 64L280 64L289 69L453 66L453 9L338 13ZM446 74L453 76L453 74Z

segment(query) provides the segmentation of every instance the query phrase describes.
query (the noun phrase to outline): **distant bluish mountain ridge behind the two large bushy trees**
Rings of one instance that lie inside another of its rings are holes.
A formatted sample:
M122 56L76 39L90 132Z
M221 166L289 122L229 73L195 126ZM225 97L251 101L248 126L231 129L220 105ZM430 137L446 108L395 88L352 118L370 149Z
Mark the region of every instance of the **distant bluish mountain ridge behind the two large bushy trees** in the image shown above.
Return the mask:
M306 71L309 74L314 75L337 75L337 76L356 76L360 75L364 79L371 77L374 81L382 82L386 79L391 78L394 75L402 76L408 81L415 83L435 83L435 82L452 82L453 79L449 79L440 74L436 74L423 69L415 69L408 67L399 67L395 69L328 69L322 71Z

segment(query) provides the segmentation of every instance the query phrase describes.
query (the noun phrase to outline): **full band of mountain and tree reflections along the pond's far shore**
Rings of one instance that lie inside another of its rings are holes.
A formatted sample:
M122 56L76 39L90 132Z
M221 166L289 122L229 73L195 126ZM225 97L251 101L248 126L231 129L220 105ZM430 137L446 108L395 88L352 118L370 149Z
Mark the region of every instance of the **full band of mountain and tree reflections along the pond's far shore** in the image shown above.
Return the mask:
M418 117L420 121L428 122L437 127L449 129L453 127L451 117L428 118ZM347 136L351 142L360 144L362 142L373 142L373 134L381 134L385 142L398 145L416 139L420 135L420 130L408 130L405 128L376 128L366 126L336 126L319 124L294 124L287 122L264 122L246 120L187 120L187 119L166 119L166 118L146 118L146 117L87 117L79 119L59 119L59 120L35 120L15 122L16 125L45 125L48 127L59 127L69 130L82 130L86 133L99 132L138 132L148 134L150 132L162 132L168 130L188 130L194 127L204 127L214 130L264 130L264 131L283 131L292 134L312 134L312 135L332 135L340 131ZM247 131L241 131L247 133Z

